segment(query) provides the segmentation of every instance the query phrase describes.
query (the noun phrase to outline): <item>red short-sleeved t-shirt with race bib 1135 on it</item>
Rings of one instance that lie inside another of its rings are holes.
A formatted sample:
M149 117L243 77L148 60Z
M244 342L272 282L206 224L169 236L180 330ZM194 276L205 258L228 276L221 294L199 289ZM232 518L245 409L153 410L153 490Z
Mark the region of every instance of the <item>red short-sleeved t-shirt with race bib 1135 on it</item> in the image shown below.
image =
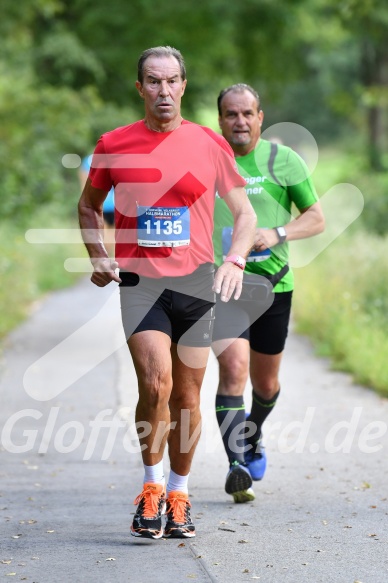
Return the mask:
M215 193L245 186L227 141L188 121L172 132L142 120L103 134L89 177L95 188L115 189L120 268L146 277L212 263Z

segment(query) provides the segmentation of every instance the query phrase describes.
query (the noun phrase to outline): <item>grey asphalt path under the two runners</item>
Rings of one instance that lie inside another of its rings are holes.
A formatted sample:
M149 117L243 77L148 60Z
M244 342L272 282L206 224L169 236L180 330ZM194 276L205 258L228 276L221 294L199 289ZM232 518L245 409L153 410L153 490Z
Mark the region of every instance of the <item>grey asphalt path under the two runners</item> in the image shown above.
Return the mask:
M217 378L211 356L189 482L196 538L135 539L137 383L118 289L84 279L41 302L2 354L0 577L387 583L388 401L291 332L265 425L268 470L256 500L236 505L224 492Z

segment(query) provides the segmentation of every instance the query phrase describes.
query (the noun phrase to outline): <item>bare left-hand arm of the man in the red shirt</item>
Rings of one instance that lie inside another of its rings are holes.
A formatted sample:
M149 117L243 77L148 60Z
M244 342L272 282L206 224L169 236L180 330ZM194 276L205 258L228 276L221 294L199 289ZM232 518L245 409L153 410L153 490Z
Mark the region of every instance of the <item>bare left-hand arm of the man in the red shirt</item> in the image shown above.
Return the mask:
M109 258L104 245L102 205L107 194L104 190L94 188L88 178L78 203L82 238L94 268L90 279L99 287L104 287L111 281L121 282L114 271L118 263Z

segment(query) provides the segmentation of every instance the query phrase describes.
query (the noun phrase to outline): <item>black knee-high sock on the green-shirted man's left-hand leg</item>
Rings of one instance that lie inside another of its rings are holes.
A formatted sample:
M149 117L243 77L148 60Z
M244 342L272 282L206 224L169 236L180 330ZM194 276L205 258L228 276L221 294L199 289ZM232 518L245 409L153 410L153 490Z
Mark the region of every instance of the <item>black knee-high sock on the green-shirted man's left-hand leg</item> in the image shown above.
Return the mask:
M216 396L216 417L222 433L222 441L229 463L238 461L245 463L244 460L244 433L245 433L245 406L243 397L227 397L224 395ZM226 421L225 421L226 420ZM225 422L225 423L224 423ZM241 430L237 433L235 427L240 425ZM230 438L230 439L229 439Z

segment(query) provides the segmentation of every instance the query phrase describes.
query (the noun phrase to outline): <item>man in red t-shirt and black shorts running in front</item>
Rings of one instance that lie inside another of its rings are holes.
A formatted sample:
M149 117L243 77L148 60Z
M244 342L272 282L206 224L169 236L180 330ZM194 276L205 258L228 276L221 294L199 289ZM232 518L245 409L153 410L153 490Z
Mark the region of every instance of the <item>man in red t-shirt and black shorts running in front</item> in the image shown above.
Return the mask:
M120 284L123 326L139 385L136 422L144 464L131 534L154 539L195 536L188 477L200 433L215 293L225 302L240 296L256 225L229 144L181 116L186 83L179 51L144 51L136 87L145 118L101 136L79 202L94 268L91 280L100 287ZM115 260L103 241L102 205L112 186ZM214 276L216 191L233 214L234 232L229 256ZM165 487L167 442L171 471Z

